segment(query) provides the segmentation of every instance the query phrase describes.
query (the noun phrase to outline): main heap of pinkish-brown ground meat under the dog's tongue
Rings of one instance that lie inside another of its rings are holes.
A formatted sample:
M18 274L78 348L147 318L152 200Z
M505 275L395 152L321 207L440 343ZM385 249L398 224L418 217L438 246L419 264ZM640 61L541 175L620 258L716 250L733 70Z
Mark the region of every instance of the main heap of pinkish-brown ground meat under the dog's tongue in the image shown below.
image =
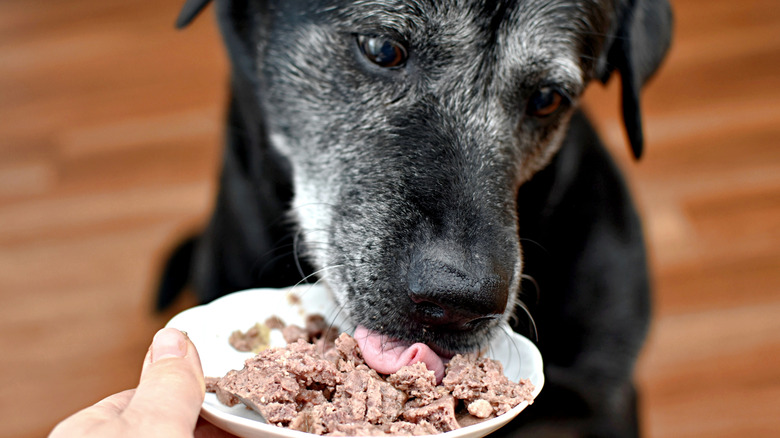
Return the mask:
M317 435L430 435L458 429L532 400L532 385L509 381L501 364L456 355L442 385L423 363L389 376L369 368L357 341L324 319L284 327L285 348L269 348L206 387L269 423ZM314 342L314 343L309 343ZM460 420L460 423L459 423Z

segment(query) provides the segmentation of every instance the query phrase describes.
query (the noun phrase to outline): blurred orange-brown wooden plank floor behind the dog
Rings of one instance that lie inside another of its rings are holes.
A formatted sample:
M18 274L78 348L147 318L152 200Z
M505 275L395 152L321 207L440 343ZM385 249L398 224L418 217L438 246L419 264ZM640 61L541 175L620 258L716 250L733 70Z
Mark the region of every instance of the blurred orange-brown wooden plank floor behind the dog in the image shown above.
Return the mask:
M181 0L0 2L0 437L135 385L162 253L212 202L226 65ZM629 159L615 86L590 112L646 218L646 436L780 436L780 4L676 0ZM178 303L183 308L191 302Z

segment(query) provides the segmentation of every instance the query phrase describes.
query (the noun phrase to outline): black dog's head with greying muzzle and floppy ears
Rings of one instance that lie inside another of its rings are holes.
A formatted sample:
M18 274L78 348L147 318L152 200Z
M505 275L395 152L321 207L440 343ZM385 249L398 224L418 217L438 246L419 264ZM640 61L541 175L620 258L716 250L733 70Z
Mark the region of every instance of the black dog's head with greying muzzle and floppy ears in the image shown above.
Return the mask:
M320 276L356 324L445 351L477 348L514 311L517 190L592 79L619 71L639 156L639 88L671 26L666 0L217 7L234 97L257 147L289 162Z

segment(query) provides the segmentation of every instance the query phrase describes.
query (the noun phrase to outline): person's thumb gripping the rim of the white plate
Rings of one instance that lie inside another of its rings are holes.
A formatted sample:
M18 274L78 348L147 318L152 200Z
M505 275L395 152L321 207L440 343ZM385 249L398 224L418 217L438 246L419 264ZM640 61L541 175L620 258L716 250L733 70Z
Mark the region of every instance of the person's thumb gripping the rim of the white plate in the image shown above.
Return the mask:
M179 330L164 328L154 336L141 381L123 415L153 426L155 436L192 436L204 394L195 345Z

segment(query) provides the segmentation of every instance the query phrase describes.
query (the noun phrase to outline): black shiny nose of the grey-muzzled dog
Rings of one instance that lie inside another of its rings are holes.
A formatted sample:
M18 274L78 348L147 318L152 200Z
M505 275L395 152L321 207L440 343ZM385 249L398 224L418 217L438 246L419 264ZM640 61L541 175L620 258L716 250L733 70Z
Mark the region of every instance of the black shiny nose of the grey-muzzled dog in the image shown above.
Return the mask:
M509 294L507 282L484 269L469 271L438 261L413 263L408 277L412 317L455 330L501 317Z

